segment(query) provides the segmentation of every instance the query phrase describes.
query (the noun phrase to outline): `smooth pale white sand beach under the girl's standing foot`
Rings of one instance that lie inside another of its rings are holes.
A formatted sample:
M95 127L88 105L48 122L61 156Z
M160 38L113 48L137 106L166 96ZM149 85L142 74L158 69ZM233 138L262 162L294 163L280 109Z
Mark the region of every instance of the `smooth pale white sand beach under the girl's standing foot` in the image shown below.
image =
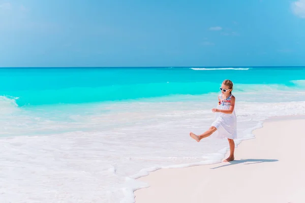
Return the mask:
M230 163L139 178L150 187L135 191L136 203L305 202L305 119L267 121L254 134L235 148Z

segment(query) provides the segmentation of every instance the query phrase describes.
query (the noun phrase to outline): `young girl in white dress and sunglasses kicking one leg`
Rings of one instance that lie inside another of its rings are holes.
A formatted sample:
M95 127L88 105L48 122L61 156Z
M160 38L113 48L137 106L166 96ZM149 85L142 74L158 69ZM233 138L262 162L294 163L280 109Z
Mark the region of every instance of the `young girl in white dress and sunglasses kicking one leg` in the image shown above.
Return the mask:
M212 109L213 113L216 113L216 120L211 124L211 127L197 136L193 132L190 132L190 136L200 142L201 139L209 137L212 133L218 132L218 137L227 138L230 145L230 156L224 160L229 162L234 160L235 143L233 139L236 139L236 115L234 111L235 97L232 95L233 83L230 80L223 81L220 90L222 94L218 96L218 107Z

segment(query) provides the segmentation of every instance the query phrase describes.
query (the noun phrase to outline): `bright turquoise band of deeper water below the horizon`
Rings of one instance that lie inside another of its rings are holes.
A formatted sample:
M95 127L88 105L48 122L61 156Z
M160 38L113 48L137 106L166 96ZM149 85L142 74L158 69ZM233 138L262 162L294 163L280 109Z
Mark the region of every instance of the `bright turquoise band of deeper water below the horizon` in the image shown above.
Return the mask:
M224 79L236 84L294 86L292 80L305 78L305 67L217 71L190 68L0 69L0 95L18 97L18 106L81 104L176 94L200 95L218 91ZM247 91L241 86L236 88Z

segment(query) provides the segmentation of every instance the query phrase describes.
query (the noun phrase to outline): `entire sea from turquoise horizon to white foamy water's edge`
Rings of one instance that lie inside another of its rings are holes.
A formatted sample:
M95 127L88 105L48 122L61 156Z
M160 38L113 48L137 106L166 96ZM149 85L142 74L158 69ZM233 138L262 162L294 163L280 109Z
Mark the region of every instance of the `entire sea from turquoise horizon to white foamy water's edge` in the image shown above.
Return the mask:
M267 118L305 114L305 67L0 69L2 202L129 203L149 172L220 162L226 140L189 132L214 121L225 79L236 145Z

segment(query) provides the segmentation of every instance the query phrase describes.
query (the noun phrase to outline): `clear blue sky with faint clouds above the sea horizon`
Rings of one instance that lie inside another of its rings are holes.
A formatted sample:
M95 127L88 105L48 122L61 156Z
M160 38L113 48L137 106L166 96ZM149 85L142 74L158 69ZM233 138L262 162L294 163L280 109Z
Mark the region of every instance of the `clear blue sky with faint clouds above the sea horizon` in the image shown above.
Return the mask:
M0 66L305 65L305 0L0 0Z

